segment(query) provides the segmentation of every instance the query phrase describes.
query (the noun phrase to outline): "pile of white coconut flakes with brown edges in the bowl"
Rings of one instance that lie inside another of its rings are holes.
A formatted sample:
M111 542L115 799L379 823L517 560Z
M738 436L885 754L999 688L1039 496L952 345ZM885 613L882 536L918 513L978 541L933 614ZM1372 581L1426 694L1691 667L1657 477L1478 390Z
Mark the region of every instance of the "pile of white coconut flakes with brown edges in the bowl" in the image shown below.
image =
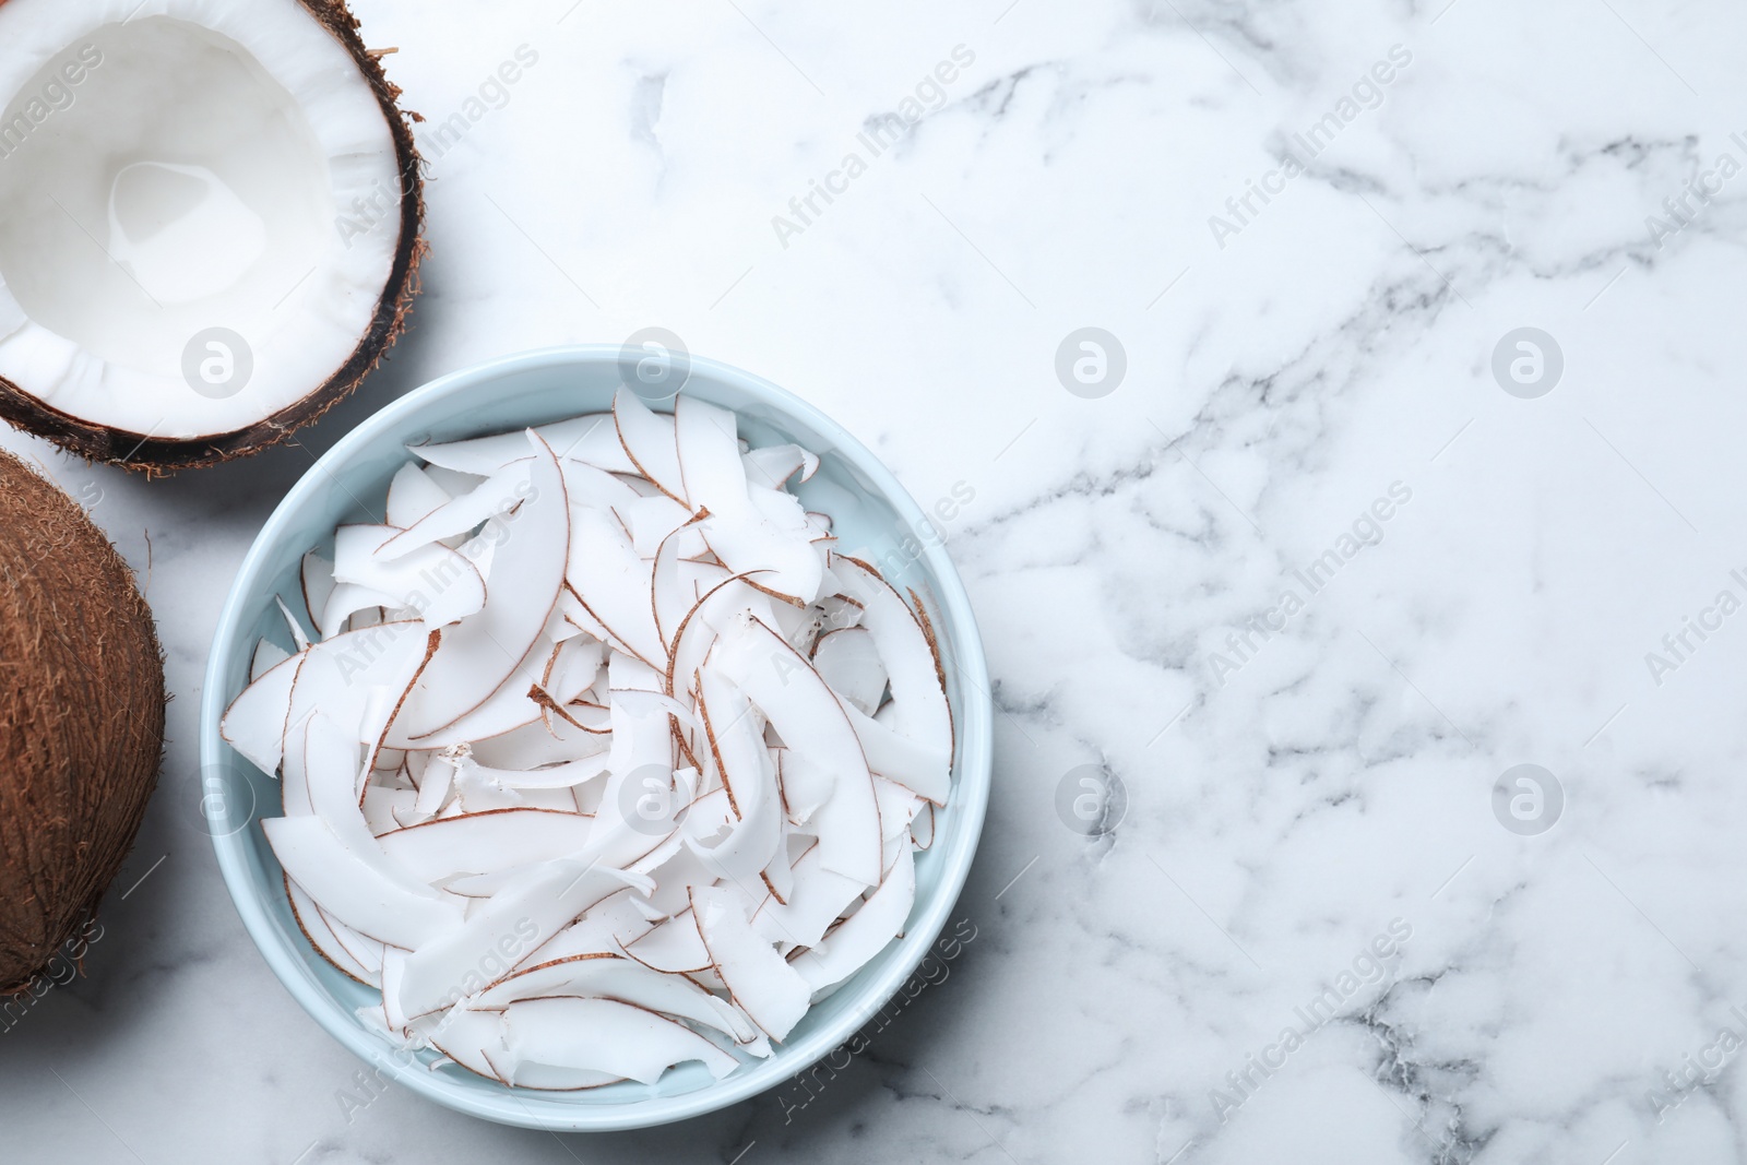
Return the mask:
M908 924L952 793L926 613L790 493L814 454L702 400L412 454L222 727L281 779L299 926L507 1085L767 1057Z

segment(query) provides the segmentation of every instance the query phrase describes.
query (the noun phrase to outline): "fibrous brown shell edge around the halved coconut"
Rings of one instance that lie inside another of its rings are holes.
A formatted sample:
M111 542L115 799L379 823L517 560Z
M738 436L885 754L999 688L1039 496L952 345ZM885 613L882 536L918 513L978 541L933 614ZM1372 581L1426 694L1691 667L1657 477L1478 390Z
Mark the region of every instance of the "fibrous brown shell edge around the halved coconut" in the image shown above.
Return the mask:
M0 0L3 5L7 0ZM419 293L419 262L428 250L421 232L425 229L425 180L418 147L412 143L409 119L418 114L402 114L397 100L400 87L383 73L381 58L363 47L358 37L358 19L346 7L344 0L290 0L300 3L356 63L358 72L370 82L376 101L388 119L390 133L395 138L395 157L400 168L400 241L395 245L395 264L388 272L388 283L376 302L376 314L351 356L335 370L327 383L313 384L309 393L297 402L280 409L273 416L231 433L197 437L190 440L169 440L147 437L128 430L96 424L84 417L61 412L59 409L33 396L26 386L14 384L0 376L0 417L14 426L45 437L61 449L93 461L108 461L126 470L161 477L171 470L197 468L246 458L269 445L287 440L292 433L309 424L323 412L344 400L372 369L376 369L388 349L407 328L407 314L412 311L412 299Z

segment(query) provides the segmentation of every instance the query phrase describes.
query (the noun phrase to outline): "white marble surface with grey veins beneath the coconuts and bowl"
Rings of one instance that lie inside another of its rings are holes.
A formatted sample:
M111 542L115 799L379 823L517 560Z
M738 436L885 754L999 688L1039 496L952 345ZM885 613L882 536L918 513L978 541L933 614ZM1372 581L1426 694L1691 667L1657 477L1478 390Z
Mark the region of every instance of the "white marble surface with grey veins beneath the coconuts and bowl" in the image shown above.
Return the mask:
M433 122L538 52L433 162L391 363L307 449L168 482L5 438L148 578L176 700L89 976L0 1036L0 1156L1742 1160L1747 615L1705 611L1747 599L1747 176L1679 231L1661 203L1747 164L1747 16L1443 3L360 0ZM975 61L938 108L779 239L956 45ZM1342 107L1392 45L1375 108ZM1309 157L1293 134L1329 112ZM1267 178L1289 150L1305 173ZM1265 178L1239 222L1225 201ZM800 1111L610 1137L398 1090L348 1111L358 1064L269 975L197 830L218 604L369 410L646 325L811 396L924 507L975 491L945 533L1005 713L977 940ZM1085 325L1127 351L1095 400L1053 372ZM1492 374L1518 327L1564 353L1532 400ZM1293 571L1329 548L1310 594ZM1721 627L1675 658L1688 617ZM1253 618L1284 631L1237 655ZM1097 840L1055 810L1088 763L1129 796ZM1544 833L1494 814L1518 763L1564 789Z

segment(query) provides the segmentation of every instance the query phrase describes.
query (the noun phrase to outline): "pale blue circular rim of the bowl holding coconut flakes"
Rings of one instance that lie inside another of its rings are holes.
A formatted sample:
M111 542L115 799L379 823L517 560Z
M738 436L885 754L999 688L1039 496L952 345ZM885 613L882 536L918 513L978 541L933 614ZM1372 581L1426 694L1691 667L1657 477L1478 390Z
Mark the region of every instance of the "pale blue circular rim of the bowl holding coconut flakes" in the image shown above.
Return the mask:
M236 578L231 582L231 590L225 596L218 625L213 632L201 690L201 765L215 767L225 763L225 746L218 737L218 721L227 702L224 672L225 662L243 646L245 596L266 585L266 561L271 550L287 536L287 526L293 515L311 503L316 489L321 487L323 480L335 468L391 433L397 426L414 421L421 410L438 400L468 393L512 374L617 363L620 353L622 349L613 344L566 344L496 356L449 372L370 414L351 431L344 433L332 449L321 454L274 507L250 545L248 554L243 557ZM849 461L910 529L928 527L922 508L898 482L896 475L853 433L832 421L812 403L735 365L694 355L690 356L690 376L697 376L699 372L706 372L716 381L746 391L762 403L776 407L784 416L826 437L833 445L833 452ZM821 1024L805 1037L783 1044L781 1055L746 1065L694 1092L671 1097L645 1097L627 1104L563 1104L557 1100L542 1100L536 1095L526 1095L514 1088L501 1088L500 1092L463 1088L449 1078L425 1069L418 1060L397 1053L391 1046L360 1027L342 1003L314 983L297 961L297 955L281 941L280 927L269 919L266 901L255 893L250 882L246 842L243 838L245 830L215 831L211 840L218 858L218 870L224 875L231 901L243 919L243 927L280 983L328 1036L337 1039L360 1060L377 1069L384 1078L397 1079L414 1093L444 1107L482 1120L550 1132L648 1128L737 1104L807 1071L828 1051L851 1039L879 1008L891 1001L922 962L964 889L987 816L994 760L994 711L982 636L977 629L970 596L952 559L947 555L945 543L942 540L921 541L922 550L915 557L926 561L933 573L936 583L933 597L940 604L942 631L952 643L954 664L963 679L963 765L956 774L954 784L954 796L957 798L956 812L963 814L963 824L954 837L943 838L947 845L942 854L940 882L929 898L917 898L912 906L910 926L903 938L898 940L898 950L887 959L877 976L856 987L858 1006L844 1010L830 1024ZM253 817L250 819L252 823ZM776 1071L779 1065L781 1071Z

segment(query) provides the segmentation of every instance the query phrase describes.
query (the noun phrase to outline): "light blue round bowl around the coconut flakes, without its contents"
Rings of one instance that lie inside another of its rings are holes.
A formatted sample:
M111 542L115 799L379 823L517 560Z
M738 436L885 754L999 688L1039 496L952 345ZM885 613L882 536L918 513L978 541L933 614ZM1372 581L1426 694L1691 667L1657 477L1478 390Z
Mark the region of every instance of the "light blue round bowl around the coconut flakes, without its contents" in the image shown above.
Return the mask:
M524 1128L664 1125L744 1100L809 1069L867 1024L921 964L970 873L989 803L989 672L970 599L933 534L935 526L891 472L818 409L756 376L692 358L685 391L734 409L755 445L793 440L818 452L819 472L797 491L807 508L835 519L846 550L870 550L894 585L914 587L931 603L947 669L947 699L957 723L957 755L952 798L936 814L935 844L917 856L915 908L903 938L893 940L860 975L812 1008L769 1060L746 1064L722 1081L713 1081L702 1065L688 1064L653 1086L622 1083L568 1093L505 1088L456 1065L432 1071L432 1053L398 1051L358 1022L355 1010L379 996L328 966L297 929L280 863L259 824L260 816L278 814L278 782L218 737L218 720L248 681L255 641L267 636L287 643L273 599L283 596L299 610L302 554L330 543L337 524L362 519L362 503L381 505L390 477L407 461L409 442L454 440L604 410L618 381L617 348L554 348L505 356L432 381L341 438L292 487L255 538L218 618L201 695L203 772L225 774L225 781L238 782L225 789L227 795L204 803L213 847L243 926L267 966L330 1036L384 1078L459 1113Z

